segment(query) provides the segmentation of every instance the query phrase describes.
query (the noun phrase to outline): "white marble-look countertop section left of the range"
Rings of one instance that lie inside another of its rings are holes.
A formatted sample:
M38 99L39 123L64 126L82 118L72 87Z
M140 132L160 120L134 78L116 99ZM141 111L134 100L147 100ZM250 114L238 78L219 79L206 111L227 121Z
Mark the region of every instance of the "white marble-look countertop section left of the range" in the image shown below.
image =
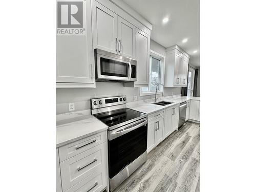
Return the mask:
M56 120L56 147L108 129L90 110L59 114Z

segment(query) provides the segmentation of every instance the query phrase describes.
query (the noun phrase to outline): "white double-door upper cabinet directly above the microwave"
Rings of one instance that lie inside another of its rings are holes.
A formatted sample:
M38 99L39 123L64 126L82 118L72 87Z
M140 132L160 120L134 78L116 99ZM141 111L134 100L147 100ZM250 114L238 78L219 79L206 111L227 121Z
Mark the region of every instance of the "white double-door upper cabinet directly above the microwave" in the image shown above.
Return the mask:
M136 27L116 13L93 1L93 48L135 58Z

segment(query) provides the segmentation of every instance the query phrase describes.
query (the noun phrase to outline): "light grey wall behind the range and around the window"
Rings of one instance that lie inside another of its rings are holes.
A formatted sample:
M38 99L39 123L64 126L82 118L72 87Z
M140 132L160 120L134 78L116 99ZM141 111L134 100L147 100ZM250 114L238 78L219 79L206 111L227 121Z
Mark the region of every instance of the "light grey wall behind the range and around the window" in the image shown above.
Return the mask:
M165 48L151 40L151 50L165 55ZM181 94L181 88L164 88L164 95ZM56 89L56 113L69 112L69 103L75 103L75 111L91 109L90 99L105 96L126 95L127 102L133 101L133 96L138 100L154 98L155 95L140 96L139 88L125 88L119 82L96 82L96 88L58 88Z

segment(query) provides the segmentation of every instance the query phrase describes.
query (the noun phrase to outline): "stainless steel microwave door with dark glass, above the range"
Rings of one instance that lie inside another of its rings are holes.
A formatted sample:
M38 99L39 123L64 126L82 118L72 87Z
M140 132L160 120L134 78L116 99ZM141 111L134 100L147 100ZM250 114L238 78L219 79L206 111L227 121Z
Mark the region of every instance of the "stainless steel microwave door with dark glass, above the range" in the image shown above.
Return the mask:
M97 79L131 81L129 61L97 54Z

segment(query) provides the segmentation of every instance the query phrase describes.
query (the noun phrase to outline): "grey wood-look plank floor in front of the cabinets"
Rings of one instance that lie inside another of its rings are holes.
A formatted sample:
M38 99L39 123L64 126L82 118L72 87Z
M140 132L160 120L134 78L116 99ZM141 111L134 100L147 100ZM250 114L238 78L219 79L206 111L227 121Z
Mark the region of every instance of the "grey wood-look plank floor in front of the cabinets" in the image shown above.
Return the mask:
M200 191L200 124L187 121L113 192Z

